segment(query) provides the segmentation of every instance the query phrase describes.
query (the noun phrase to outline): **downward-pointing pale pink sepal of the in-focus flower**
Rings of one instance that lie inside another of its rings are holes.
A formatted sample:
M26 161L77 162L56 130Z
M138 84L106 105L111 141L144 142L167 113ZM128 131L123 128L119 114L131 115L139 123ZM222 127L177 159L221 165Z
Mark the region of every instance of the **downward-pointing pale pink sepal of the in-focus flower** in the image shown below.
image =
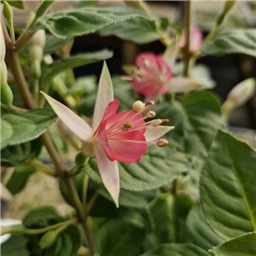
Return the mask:
M119 167L116 161L108 160L101 147L95 146L94 153L102 182L113 198L116 207L119 207Z

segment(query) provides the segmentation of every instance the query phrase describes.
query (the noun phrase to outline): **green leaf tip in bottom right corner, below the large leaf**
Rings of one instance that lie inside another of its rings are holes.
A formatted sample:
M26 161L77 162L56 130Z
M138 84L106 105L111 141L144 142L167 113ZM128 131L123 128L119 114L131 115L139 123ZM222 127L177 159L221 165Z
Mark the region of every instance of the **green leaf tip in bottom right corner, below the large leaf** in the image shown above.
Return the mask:
M209 252L216 256L253 256L256 255L255 241L256 233L248 233L225 241L218 247L213 247Z

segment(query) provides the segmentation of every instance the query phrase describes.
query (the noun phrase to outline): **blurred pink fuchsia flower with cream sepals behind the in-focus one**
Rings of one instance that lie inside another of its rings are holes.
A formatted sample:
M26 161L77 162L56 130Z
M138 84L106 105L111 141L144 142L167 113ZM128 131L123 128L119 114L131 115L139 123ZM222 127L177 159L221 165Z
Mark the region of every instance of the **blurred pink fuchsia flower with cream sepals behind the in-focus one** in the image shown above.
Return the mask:
M154 97L171 91L184 93L202 85L188 78L173 78L172 67L176 59L176 42L173 42L163 56L145 52L137 56L137 68L126 69L131 75L122 79L130 80L135 90L144 96Z

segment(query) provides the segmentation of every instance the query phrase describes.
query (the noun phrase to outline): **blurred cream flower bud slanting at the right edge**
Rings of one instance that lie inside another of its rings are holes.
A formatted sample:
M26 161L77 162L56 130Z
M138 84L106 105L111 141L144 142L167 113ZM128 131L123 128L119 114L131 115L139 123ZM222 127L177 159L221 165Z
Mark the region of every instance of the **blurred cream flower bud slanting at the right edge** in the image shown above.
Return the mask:
M247 102L255 92L255 79L246 79L237 84L229 93L227 100L222 105L224 114L230 113L234 108L240 107Z

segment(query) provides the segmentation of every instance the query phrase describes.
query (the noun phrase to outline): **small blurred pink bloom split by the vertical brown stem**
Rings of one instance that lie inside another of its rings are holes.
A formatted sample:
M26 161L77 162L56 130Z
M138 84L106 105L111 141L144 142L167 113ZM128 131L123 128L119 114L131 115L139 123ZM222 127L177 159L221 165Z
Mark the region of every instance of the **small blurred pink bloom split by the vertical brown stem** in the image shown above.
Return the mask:
M187 35L186 29L183 30L182 37L179 40L179 47L183 48L186 44ZM201 48L203 40L203 34L199 28L193 28L190 30L190 51L195 52Z

